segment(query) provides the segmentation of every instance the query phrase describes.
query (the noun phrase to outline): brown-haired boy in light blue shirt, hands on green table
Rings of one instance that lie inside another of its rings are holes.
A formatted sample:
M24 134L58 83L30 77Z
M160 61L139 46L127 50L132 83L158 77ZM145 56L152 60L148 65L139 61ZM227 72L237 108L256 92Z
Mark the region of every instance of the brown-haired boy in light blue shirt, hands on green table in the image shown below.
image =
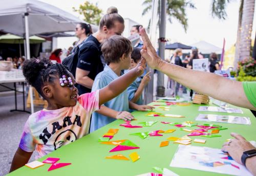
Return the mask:
M128 69L131 64L132 45L130 40L122 36L112 36L106 39L101 51L106 61L104 70L97 74L92 91L101 89L108 85L111 81L122 76L121 70ZM101 106L100 110L92 114L91 129L93 132L116 119L132 120L134 117L127 112L130 109L138 111L152 110L154 107L146 105L137 105L130 102L125 90L114 99Z

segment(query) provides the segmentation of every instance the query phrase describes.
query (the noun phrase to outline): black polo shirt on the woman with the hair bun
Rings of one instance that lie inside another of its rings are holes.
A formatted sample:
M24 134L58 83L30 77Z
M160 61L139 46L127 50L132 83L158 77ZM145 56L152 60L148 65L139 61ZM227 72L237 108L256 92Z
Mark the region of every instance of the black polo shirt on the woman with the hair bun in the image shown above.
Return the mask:
M77 68L90 71L88 77L94 80L96 75L103 70L100 59L101 55L100 42L94 36L90 35L79 49ZM79 84L77 84L77 89L79 95L92 91L92 89Z

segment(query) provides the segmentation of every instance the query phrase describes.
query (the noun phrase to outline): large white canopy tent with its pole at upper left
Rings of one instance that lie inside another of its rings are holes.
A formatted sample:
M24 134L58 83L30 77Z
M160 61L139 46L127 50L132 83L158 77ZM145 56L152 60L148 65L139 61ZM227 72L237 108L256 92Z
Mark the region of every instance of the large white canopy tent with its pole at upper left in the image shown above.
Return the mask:
M30 59L29 36L49 32L74 31L78 22L84 21L40 1L0 1L0 31L26 38L27 59ZM31 90L30 97L33 98ZM31 113L33 112L33 99L31 99Z

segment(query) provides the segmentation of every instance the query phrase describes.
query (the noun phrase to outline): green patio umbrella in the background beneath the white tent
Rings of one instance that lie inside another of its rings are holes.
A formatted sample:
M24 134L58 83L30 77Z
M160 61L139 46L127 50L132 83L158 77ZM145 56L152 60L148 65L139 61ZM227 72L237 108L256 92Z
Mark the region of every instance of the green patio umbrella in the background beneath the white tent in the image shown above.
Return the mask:
M42 43L45 41L46 39L41 37L37 37L37 36L29 37L30 44ZM22 44L24 43L24 38L16 35L12 35L12 34L6 34L6 35L0 36L0 43Z

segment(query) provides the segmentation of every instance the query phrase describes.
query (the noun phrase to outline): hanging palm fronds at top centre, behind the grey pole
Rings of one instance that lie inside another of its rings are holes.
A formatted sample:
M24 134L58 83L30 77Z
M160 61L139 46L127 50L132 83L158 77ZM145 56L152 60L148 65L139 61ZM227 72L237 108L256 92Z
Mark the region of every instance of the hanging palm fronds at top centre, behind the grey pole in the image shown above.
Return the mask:
M145 15L148 11L152 9L152 0L145 0L142 5L146 6L142 12L142 15ZM184 30L187 30L187 17L186 17L186 8L196 9L195 5L187 0L166 0L166 13L168 15L168 21L172 23L172 19L176 18L183 26ZM158 19L160 15L160 1L158 5ZM148 27L150 27L150 22ZM158 20L159 26L159 20Z

